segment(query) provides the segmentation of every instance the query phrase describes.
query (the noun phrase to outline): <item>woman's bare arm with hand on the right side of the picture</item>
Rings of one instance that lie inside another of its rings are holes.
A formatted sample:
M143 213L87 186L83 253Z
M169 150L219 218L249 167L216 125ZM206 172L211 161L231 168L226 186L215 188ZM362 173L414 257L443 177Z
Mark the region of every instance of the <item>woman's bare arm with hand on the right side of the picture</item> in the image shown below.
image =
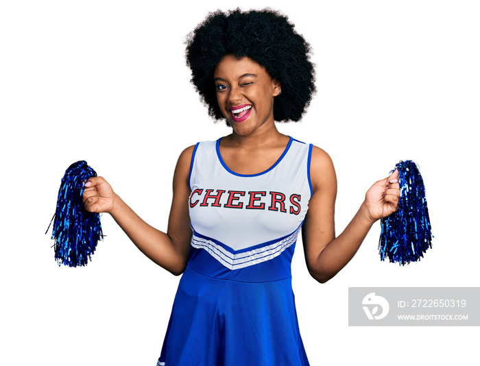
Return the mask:
M379 180L366 193L357 214L335 237L337 178L330 156L315 147L311 158L313 195L303 224L305 258L311 276L319 282L333 278L355 256L373 223L397 210L398 172ZM392 183L390 183L392 181Z

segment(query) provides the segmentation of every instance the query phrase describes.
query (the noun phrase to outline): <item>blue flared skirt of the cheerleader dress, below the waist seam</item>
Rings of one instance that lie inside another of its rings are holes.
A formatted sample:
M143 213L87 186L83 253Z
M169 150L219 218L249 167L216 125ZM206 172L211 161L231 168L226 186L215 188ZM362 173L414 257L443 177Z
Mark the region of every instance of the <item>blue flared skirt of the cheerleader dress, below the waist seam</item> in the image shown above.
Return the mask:
M291 276L212 278L187 267L157 366L307 366Z

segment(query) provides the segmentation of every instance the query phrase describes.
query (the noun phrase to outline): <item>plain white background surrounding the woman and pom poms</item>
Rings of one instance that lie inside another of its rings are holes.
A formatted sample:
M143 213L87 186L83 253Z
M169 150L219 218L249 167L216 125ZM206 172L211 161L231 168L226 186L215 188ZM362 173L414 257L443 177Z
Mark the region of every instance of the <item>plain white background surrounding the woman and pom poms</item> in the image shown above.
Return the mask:
M310 4L310 5L309 5ZM338 175L341 232L399 160L420 164L435 239L419 263L379 260L380 225L333 280L293 260L311 365L474 365L477 327L348 327L349 286L480 286L477 1L1 1L0 363L155 365L179 278L110 216L87 267L58 267L45 230L77 160L166 229L180 151L228 134L189 84L184 37L208 11L274 6L314 50L309 112L280 131Z

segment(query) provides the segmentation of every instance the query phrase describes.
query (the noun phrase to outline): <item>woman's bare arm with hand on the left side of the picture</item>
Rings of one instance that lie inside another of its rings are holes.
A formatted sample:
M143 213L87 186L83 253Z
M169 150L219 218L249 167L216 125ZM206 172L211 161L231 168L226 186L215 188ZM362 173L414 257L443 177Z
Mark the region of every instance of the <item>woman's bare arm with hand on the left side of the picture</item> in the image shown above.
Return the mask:
M193 147L185 149L177 162L167 233L157 230L136 215L104 178L89 179L83 196L86 210L110 213L143 254L175 275L183 273L187 265L192 234L188 210L192 154Z

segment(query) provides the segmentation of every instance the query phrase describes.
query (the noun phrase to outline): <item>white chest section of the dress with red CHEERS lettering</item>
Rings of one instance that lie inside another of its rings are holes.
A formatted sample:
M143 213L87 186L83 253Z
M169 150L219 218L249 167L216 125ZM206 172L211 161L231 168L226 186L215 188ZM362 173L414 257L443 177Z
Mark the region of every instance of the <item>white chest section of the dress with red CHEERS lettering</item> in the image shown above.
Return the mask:
M197 151L190 179L195 232L239 250L291 234L301 225L311 197L307 154L291 154L267 171L241 175L206 150Z

